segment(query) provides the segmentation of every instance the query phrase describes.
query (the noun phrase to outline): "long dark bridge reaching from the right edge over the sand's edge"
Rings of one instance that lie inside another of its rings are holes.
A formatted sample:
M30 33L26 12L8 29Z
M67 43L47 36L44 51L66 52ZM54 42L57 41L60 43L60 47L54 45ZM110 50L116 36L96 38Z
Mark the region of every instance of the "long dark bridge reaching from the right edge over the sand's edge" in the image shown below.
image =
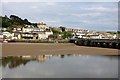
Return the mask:
M71 39L70 42L79 46L120 49L120 39Z

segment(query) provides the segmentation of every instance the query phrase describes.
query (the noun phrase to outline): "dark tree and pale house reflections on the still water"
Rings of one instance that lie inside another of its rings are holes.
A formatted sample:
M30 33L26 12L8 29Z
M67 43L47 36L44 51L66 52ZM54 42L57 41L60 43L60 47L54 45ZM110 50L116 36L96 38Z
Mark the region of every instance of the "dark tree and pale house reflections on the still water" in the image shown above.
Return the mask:
M43 63L54 56L64 58L65 55L8 56L8 57L3 57L2 60L0 60L2 63L0 65L2 65L2 67L9 67L10 69L12 69L20 65L25 66L30 61L37 61ZM68 54L68 56L71 56L71 54Z

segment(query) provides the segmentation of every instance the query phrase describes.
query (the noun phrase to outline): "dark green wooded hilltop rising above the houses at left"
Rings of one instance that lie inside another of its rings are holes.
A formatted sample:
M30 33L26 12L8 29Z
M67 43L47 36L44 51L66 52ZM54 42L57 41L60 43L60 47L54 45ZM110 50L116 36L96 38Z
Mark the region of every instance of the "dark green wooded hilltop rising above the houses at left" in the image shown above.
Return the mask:
M12 30L17 26L25 26L25 25L35 25L34 23L29 22L27 19L22 19L16 15L10 15L7 17L6 15L0 16L0 20L2 19L2 28L7 28L8 30Z

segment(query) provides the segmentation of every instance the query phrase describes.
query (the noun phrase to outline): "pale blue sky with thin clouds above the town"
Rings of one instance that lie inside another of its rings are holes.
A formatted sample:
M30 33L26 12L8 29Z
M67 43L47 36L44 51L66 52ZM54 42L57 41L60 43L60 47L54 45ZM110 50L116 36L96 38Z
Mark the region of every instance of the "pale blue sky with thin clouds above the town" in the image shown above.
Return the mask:
M31 0L32 1L32 0ZM17 15L53 27L96 31L118 29L117 2L2 2L2 15Z

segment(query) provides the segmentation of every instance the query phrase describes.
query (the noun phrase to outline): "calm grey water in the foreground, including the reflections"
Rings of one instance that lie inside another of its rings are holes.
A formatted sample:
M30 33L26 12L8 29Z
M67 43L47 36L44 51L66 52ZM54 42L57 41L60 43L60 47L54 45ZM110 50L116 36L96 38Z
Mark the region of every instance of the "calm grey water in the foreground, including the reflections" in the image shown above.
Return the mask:
M3 78L117 78L117 56L39 55L2 58Z

